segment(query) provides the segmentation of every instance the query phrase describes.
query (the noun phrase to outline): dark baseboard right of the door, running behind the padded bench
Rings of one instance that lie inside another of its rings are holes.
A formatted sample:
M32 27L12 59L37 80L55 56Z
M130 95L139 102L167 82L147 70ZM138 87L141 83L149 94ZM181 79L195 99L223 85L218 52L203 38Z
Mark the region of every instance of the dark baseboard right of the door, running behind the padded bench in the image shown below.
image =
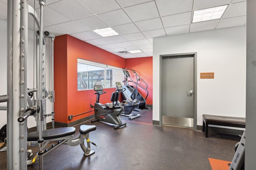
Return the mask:
M197 130L202 131L203 126L197 125ZM228 129L228 128L222 128L222 127L210 127L208 126L208 133L209 132L214 132L214 133L222 133L222 134L227 134L227 135L242 135L244 133L243 130L239 129Z

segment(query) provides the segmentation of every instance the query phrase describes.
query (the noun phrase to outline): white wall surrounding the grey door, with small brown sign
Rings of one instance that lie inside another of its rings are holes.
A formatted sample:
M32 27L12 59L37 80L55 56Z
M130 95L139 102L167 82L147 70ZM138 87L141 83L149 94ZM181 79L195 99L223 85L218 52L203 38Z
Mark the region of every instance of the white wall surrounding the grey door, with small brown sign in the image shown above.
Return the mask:
M202 114L245 117L246 27L153 39L153 120L160 120L160 55L197 53L197 125ZM214 79L200 79L214 72Z

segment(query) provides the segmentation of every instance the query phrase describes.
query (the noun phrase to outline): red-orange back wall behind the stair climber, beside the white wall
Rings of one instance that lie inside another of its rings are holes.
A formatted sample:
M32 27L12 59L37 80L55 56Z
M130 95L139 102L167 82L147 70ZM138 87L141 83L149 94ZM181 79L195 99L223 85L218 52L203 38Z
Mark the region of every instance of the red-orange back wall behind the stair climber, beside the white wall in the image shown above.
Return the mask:
M148 97L146 99L146 104L153 105L153 57L140 57L125 60L125 68L130 68L135 70L137 74L148 84ZM130 72L130 70L128 70ZM130 72L131 78L136 81L133 77L134 74ZM141 86L145 87L141 82ZM146 91L138 87L138 91L145 98Z

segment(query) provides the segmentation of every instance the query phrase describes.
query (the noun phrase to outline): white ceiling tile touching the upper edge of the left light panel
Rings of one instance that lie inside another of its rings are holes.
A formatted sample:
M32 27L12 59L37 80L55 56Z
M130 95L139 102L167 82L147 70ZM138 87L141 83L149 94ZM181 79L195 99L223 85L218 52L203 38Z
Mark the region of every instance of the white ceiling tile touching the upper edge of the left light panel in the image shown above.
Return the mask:
M106 23L104 23L102 20L100 20L97 16L90 16L90 17L82 18L82 19L75 20L75 21L90 30L109 27Z

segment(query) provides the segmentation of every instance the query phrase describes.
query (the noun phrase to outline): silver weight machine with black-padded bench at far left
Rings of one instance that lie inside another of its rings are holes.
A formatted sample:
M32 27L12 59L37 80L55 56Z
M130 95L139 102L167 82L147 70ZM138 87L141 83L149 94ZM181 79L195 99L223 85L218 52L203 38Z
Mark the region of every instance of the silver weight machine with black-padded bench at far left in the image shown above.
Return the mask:
M80 136L74 137L74 127L64 127L46 130L45 117L52 116L52 127L54 127L54 111L45 114L46 100L54 102L54 90L46 90L45 75L45 37L52 40L52 51L54 35L43 31L43 6L46 0L38 0L40 5L40 18L34 9L28 5L28 0L8 1L7 22L7 95L1 96L1 102L7 102L7 169L26 170L27 165L27 143L36 143L39 150L34 161L39 160L39 169L43 169L43 155L49 152L46 145L49 141L57 140L59 144L66 143L70 146L80 145L84 155L94 153L90 149L89 132L96 130L94 125L81 125ZM28 14L34 17L39 31L36 32L36 99L31 100L27 93L28 75ZM53 64L53 57L52 57ZM53 66L52 66L53 73ZM53 74L52 74L53 75ZM53 76L52 76L53 82ZM2 107L1 107L2 108ZM5 107L4 107L5 109ZM53 109L52 109L53 110ZM27 133L27 118L33 115L37 122L37 132ZM84 145L86 139L87 147ZM35 142L36 141L36 142ZM58 145L59 146L59 145ZM54 147L56 148L56 147ZM52 149L53 150L53 149ZM32 160L32 161L33 161Z

